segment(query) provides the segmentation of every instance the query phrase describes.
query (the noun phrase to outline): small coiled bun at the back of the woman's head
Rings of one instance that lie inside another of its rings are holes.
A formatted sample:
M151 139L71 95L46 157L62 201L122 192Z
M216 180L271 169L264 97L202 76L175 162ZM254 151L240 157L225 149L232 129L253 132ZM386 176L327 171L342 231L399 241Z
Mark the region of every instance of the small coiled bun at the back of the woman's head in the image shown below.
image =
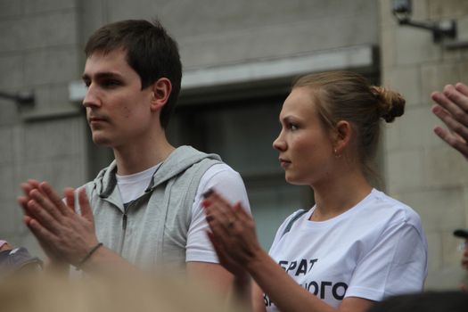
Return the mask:
M386 122L393 122L395 118L405 112L405 99L398 92L391 91L383 86L371 86L371 92L379 104L379 116Z

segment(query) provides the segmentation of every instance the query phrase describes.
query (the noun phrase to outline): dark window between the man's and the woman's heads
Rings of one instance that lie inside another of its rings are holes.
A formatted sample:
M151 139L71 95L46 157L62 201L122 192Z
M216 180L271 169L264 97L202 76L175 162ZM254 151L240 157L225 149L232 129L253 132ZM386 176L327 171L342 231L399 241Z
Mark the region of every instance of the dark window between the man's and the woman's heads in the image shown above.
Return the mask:
M172 144L215 152L242 175L265 249L284 218L313 202L310 187L285 182L278 152L272 147L280 131L278 115L285 97L181 105L168 128Z

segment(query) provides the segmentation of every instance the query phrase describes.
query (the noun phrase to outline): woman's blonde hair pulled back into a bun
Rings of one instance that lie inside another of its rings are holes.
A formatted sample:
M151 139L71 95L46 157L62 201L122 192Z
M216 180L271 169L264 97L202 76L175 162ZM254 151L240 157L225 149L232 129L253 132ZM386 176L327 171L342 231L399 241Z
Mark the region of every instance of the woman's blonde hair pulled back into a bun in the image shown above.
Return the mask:
M371 160L380 137L380 120L392 122L405 111L405 99L382 86L372 86L356 72L328 71L299 78L292 88L305 86L324 127L335 128L349 121L357 133L357 158L365 174L374 172Z

